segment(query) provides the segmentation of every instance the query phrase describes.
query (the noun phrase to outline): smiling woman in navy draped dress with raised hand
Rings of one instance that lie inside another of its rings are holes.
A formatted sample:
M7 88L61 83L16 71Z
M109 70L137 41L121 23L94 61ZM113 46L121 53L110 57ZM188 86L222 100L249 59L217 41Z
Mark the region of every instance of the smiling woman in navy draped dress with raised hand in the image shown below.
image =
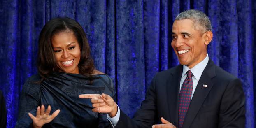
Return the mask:
M52 19L42 29L37 57L39 75L23 86L16 127L105 128L105 114L92 112L79 94L106 93L114 87L106 74L95 70L83 28L70 18Z

